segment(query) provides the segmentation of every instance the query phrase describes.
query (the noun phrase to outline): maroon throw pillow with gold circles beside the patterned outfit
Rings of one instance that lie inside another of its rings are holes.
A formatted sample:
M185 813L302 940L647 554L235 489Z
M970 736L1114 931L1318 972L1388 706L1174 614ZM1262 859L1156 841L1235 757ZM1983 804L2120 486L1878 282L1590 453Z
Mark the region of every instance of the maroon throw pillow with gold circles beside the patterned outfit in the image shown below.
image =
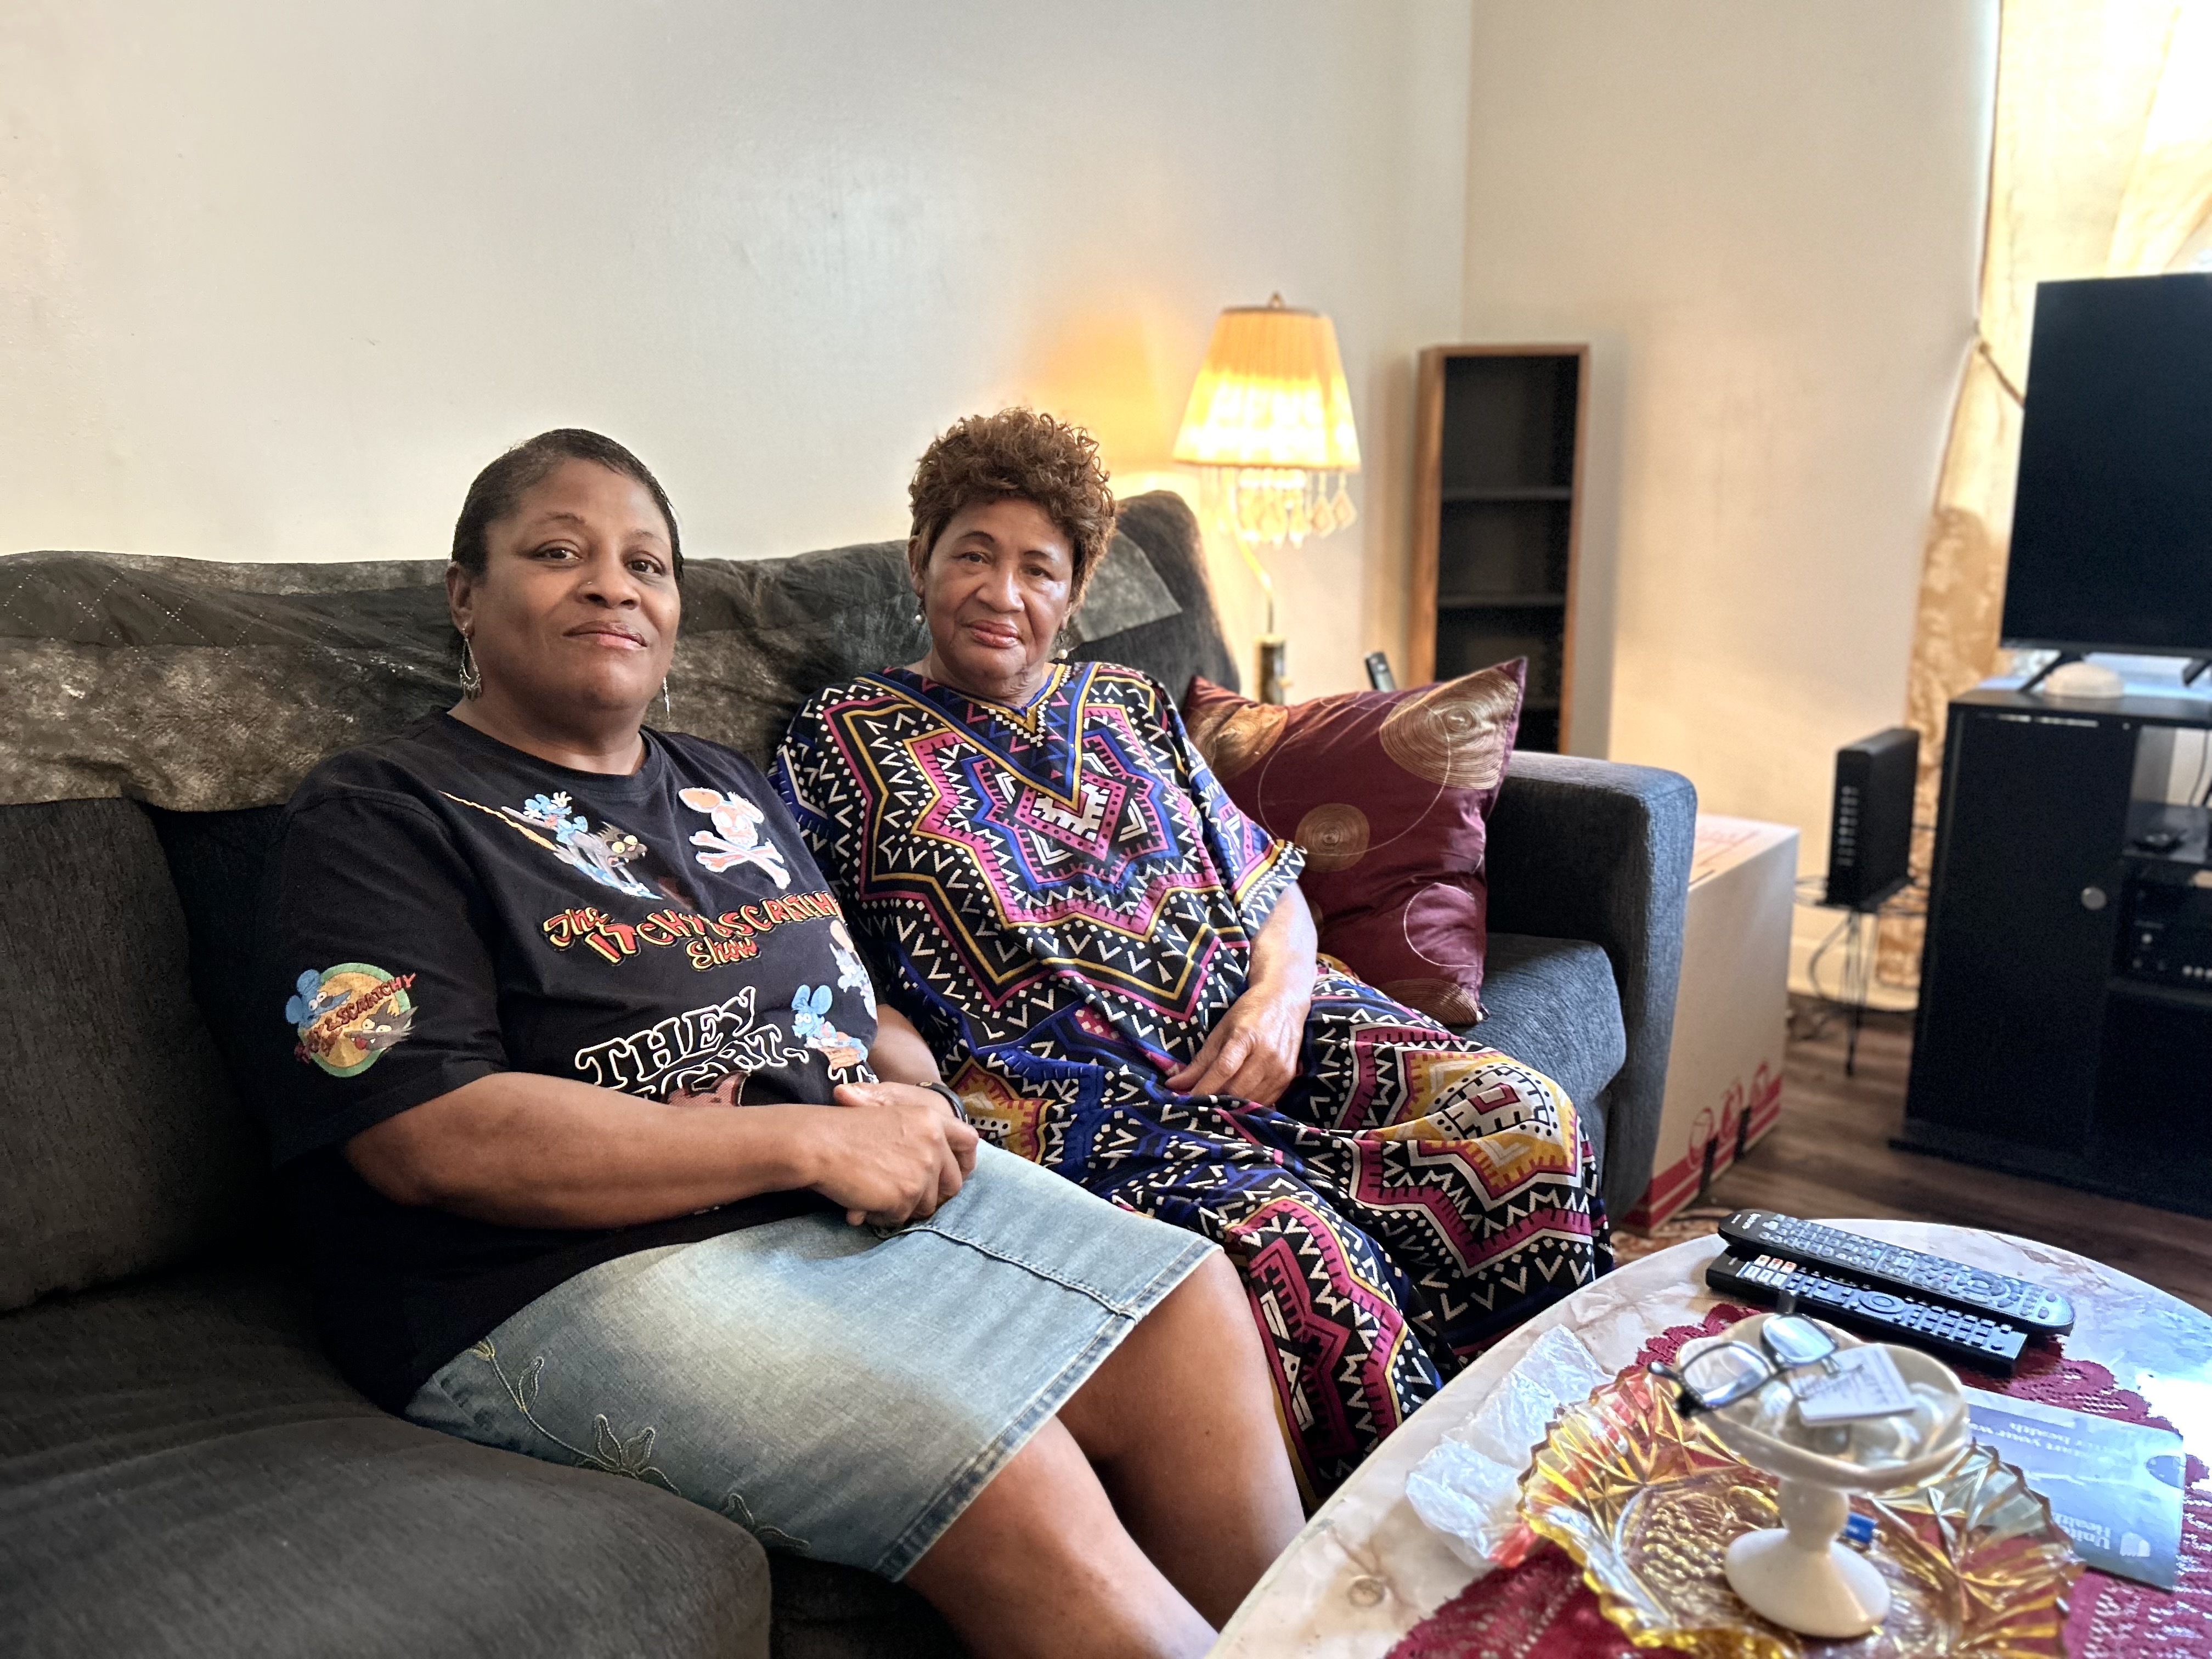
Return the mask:
M1482 1018L1491 805L1528 664L1396 692L1254 703L1203 675L1183 721L1230 799L1305 847L1321 949L1444 1024Z

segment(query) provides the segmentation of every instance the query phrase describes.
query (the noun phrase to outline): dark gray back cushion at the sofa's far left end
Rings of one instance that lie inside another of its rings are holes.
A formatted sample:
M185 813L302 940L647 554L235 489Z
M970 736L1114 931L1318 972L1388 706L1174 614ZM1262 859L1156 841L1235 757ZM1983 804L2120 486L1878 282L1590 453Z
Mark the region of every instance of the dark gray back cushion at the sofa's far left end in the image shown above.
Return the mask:
M0 807L0 1310L168 1265L263 1214L265 1157L192 1002L131 801Z

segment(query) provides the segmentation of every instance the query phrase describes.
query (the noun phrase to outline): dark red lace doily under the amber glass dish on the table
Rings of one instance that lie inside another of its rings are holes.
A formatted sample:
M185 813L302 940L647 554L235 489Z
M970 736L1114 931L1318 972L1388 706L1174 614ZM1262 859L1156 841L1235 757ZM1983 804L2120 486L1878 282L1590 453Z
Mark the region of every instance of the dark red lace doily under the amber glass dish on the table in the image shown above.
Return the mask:
M1637 1354L1637 1365L1672 1360L1683 1343L1717 1336L1754 1310L1719 1303L1694 1325L1674 1325ZM2119 1387L2095 1360L2070 1360L2055 1347L2037 1349L2008 1383L1964 1376L1991 1394L2088 1411L2099 1418L2159 1429L2172 1425L2150 1402ZM2205 1464L2190 1458L2181 1504L2181 1582L2168 1590L2084 1573L2066 1617L2073 1659L2135 1659L2137 1655L2201 1655L2212 1659L2212 1493L2199 1491ZM1533 1535L1524 1540L1533 1544ZM1668 1655L1674 1648L1626 1644L1582 1584L1568 1555L1535 1544L1511 1571L1491 1573L1460 1590L1429 1619L1413 1626L1389 1659L1619 1659L1630 1652Z

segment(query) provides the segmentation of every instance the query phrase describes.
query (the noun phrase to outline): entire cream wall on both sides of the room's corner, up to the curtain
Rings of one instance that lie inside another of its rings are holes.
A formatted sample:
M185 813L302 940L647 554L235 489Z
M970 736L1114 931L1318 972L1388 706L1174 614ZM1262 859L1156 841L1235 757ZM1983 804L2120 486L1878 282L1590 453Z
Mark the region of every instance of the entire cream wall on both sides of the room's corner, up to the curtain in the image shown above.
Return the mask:
M894 535L1011 398L1150 482L1214 310L1281 288L1369 458L1279 560L1307 695L1405 648L1411 354L1586 338L1579 748L1818 867L1827 754L1902 706L1993 42L1995 0L15 0L0 549L431 555L553 422L701 553Z

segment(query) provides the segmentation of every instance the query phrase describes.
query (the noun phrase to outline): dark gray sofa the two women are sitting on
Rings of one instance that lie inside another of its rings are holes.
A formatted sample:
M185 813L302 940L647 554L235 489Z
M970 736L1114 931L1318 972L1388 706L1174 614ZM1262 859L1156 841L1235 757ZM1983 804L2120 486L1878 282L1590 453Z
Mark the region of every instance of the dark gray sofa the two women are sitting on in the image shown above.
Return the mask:
M1082 655L1234 684L1175 498ZM0 1652L933 1655L918 1597L657 1489L385 1416L316 1349L226 1071L274 803L451 701L436 562L0 560ZM695 562L675 726L757 757L918 648L891 546ZM1515 757L1484 1035L1657 1133L1694 796Z

